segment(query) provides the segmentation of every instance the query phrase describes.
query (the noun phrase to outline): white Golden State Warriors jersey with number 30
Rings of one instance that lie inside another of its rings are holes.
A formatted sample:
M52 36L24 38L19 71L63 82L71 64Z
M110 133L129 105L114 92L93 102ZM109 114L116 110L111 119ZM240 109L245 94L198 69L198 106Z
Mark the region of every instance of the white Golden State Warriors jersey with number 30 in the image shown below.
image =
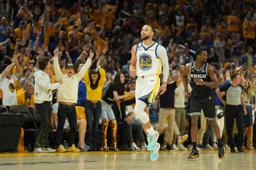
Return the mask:
M161 61L157 56L158 43L154 42L149 47L143 46L143 42L137 44L136 47L136 75L146 76L146 75L156 75L161 74Z

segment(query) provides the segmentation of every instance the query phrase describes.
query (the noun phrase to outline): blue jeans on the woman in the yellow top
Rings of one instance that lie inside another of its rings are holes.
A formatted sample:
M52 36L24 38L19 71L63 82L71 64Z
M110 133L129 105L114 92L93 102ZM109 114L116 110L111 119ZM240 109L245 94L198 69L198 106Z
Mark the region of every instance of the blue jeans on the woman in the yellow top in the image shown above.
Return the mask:
M86 145L90 148L97 148L98 144L98 123L101 116L101 102L92 103L87 100L85 104L86 127Z

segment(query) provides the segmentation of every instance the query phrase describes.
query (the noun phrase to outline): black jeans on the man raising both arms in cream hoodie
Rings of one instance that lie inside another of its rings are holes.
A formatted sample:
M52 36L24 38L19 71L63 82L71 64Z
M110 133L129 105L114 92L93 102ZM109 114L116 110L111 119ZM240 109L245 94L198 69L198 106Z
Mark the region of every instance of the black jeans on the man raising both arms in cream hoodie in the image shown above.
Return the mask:
M59 145L62 145L62 131L64 128L65 120L66 117L69 120L69 141L68 141L68 147L72 146L75 142L75 135L77 133L77 112L75 110L75 105L73 107L68 107L71 105L66 105L66 104L61 104L59 103L59 108L58 108L58 126L56 130L56 135L55 135L55 141L57 147Z

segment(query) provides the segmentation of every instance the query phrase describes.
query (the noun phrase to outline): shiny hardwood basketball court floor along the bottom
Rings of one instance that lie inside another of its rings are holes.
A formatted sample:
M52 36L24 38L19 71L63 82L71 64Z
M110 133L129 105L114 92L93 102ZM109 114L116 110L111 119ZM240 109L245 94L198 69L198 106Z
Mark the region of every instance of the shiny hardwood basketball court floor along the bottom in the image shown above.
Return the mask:
M9 170L65 170L65 169L256 169L256 151L226 154L218 159L217 151L199 151L199 158L187 159L190 151L159 151L159 158L150 161L149 151L65 152L65 153L1 153L0 169Z

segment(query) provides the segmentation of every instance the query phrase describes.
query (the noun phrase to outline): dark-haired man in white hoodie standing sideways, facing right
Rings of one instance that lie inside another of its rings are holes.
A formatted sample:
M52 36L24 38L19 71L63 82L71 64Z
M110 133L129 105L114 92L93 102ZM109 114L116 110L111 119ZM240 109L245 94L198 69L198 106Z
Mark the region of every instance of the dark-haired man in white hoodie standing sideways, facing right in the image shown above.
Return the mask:
M38 129L35 139L34 150L36 152L55 152L49 147L48 134L51 127L51 100L52 90L57 89L62 84L62 79L57 83L51 84L47 74L50 70L50 59L43 57L39 59L39 66L35 69L35 107L41 117L41 126Z

